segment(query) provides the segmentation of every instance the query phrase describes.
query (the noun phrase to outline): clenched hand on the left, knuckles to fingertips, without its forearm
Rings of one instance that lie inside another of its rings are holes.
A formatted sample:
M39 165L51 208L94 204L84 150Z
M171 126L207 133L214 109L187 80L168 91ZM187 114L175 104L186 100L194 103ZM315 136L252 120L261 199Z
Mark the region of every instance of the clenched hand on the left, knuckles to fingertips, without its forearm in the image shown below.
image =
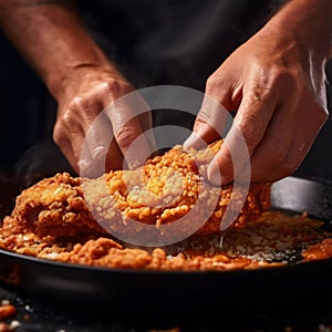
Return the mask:
M80 166L84 167L84 174L89 169L87 174L94 177L101 175L95 174L95 163L105 162L105 172L123 168L124 160L129 168L143 164L151 154L148 142L142 137L138 149L131 151L129 147L151 127L149 113L134 117L135 110L131 107L133 103L128 105L116 102L117 98L133 92L133 86L121 74L114 72L95 68L77 71L80 73L71 76L58 98L59 108L53 131L54 142L73 169L79 174ZM105 107L107 112L94 122ZM89 152L84 153L84 158L81 159L85 138ZM129 156L126 155L128 149Z

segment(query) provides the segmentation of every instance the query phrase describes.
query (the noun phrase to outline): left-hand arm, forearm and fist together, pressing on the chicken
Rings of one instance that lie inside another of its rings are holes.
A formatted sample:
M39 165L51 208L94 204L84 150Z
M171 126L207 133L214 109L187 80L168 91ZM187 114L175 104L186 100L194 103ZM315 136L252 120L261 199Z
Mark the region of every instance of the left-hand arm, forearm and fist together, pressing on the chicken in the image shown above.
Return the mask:
M129 167L144 162L149 146L141 133L151 126L151 117L133 117L133 105L118 103L133 86L90 37L75 2L0 1L0 23L58 102L54 142L76 173L80 162L85 175L91 170L96 176L101 168L123 168L124 159ZM136 97L135 108L142 103ZM139 148L129 148L138 136ZM81 159L85 138L89 148Z

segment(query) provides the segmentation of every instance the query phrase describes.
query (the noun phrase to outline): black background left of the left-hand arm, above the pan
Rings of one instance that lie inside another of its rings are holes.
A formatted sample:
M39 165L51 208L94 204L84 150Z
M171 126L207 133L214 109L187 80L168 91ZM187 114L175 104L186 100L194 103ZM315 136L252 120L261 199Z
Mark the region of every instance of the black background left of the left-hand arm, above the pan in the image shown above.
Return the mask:
M55 101L1 33L0 63L0 175L29 185L34 176L72 172L52 141Z

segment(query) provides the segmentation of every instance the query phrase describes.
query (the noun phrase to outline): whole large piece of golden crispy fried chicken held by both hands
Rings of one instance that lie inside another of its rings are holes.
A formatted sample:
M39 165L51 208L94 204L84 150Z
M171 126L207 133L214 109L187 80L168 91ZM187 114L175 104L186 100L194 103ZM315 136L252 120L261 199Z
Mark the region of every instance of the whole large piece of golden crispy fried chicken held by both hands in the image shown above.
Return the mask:
M242 228L270 208L271 184L251 183L248 195L246 186L211 186L207 164L221 144L189 152L175 146L135 170L110 172L96 179L56 174L23 190L11 217L39 236L111 232L128 242L217 234L222 218L234 211L239 214L230 227Z

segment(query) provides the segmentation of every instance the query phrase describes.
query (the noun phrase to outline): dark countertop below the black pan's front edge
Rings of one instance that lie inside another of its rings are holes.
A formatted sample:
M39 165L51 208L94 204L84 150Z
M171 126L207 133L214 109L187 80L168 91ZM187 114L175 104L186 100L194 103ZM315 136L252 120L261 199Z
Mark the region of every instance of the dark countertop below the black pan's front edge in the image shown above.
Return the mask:
M324 295L322 295L323 298ZM289 305L274 303L270 308L241 308L227 310L220 299L214 310L203 313L186 308L178 314L169 314L167 305L163 312L154 312L153 308L80 308L69 303L52 303L46 294L38 299L17 290L7 283L0 283L0 300L9 301L17 308L17 314L7 319L19 322L15 332L330 332L332 331L331 298L325 303L303 303ZM330 302L330 309L326 307ZM328 303L328 304L326 304ZM116 305L115 305L116 307ZM129 305L128 305L129 307ZM323 308L322 308L323 307ZM172 308L172 303L169 307ZM13 323L15 324L15 323Z

